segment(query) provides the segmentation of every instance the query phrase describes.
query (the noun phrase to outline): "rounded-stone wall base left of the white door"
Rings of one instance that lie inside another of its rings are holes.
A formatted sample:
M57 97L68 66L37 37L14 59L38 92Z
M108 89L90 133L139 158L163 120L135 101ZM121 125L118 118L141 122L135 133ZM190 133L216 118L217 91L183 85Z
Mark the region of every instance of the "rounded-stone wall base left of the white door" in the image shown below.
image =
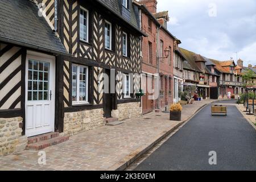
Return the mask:
M27 137L22 136L21 117L0 118L0 156L25 150Z

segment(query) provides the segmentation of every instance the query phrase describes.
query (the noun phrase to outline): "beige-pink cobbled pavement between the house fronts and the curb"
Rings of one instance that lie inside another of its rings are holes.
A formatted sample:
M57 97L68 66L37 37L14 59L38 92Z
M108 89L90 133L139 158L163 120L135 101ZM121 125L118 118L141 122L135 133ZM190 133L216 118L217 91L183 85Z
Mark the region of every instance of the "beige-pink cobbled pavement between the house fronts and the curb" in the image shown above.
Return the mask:
M2 170L110 170L136 155L172 128L180 125L213 100L186 105L182 121L170 121L168 113L150 113L127 119L122 125L103 126L71 137L67 142L45 148L46 165L38 164L38 151L22 151L0 157Z

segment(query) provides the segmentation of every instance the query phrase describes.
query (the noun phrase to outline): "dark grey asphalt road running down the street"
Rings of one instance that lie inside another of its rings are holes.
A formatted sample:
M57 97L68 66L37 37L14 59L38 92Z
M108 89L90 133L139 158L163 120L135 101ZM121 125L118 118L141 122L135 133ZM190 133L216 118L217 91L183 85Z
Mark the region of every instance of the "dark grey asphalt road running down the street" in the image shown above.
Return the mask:
M210 151L216 165L209 164ZM256 170L256 131L236 106L212 116L208 105L135 170Z

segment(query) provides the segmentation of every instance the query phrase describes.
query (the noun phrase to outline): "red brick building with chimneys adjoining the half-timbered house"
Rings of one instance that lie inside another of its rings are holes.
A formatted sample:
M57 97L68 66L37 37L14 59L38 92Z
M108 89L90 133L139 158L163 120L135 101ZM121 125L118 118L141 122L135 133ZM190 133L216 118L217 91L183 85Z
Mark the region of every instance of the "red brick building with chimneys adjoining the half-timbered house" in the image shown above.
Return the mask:
M177 39L167 30L168 11L157 13L156 0L142 0L139 4L142 10L142 31L148 35L142 40L142 72L147 75L160 75L159 85L156 79L152 79L152 82L148 79L147 82L142 81L142 87L148 85L148 82L151 82L152 88L159 86L159 89L155 89L154 101L148 101L150 94L144 96L142 106L145 113L154 108L164 109L173 102L173 55L174 41Z

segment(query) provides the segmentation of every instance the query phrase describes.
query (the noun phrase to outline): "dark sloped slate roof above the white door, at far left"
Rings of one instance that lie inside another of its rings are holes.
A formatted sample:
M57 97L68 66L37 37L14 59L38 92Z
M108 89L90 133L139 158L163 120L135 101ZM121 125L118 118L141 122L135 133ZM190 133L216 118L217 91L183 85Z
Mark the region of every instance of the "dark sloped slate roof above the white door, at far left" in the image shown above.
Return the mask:
M0 41L57 54L68 54L38 7L28 0L0 1Z

